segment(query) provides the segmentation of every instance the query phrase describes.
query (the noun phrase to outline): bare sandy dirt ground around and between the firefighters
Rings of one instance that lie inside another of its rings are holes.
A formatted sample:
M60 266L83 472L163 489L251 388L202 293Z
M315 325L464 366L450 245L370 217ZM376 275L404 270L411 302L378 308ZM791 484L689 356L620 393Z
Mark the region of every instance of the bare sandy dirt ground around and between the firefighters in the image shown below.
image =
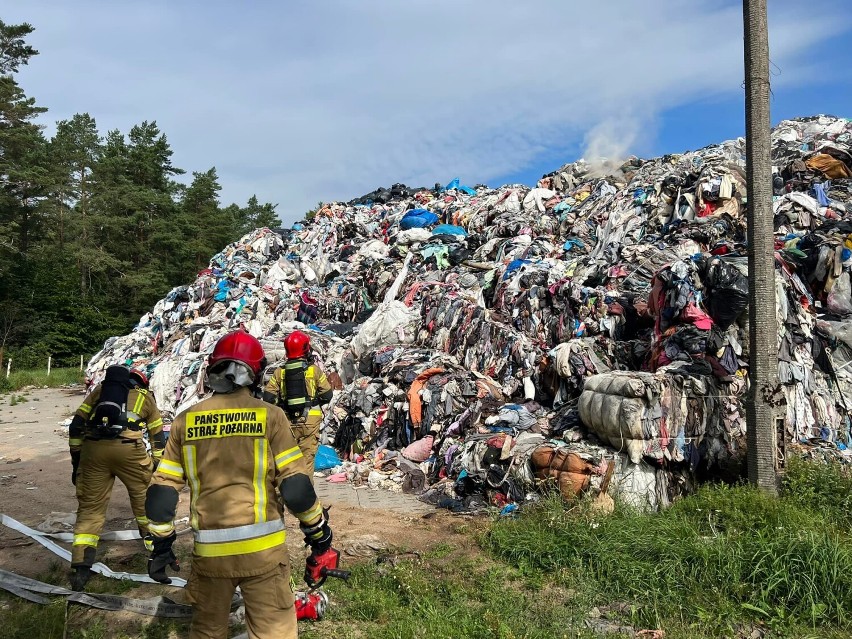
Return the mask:
M21 396L26 401L20 401ZM36 527L51 513L76 511L67 430L62 424L82 401L82 388L15 393L14 406L12 397L0 398L0 512ZM460 523L458 516L436 511L411 496L366 487L356 490L348 484L325 483L321 478L316 481L323 504L332 506L335 546L343 551L344 562L369 556L374 546L424 550L444 541ZM181 494L178 517L188 515L188 497L187 492ZM294 518L287 517L286 521L288 546L300 569L305 556L301 535ZM104 530L124 529L135 529L135 522L127 491L116 482ZM178 540L184 553L189 552L190 543L190 535ZM138 541L104 542L98 560L114 570L130 570L131 564L144 565L139 562L141 553ZM0 568L37 578L57 560L27 537L0 526ZM181 576L187 576L186 571Z

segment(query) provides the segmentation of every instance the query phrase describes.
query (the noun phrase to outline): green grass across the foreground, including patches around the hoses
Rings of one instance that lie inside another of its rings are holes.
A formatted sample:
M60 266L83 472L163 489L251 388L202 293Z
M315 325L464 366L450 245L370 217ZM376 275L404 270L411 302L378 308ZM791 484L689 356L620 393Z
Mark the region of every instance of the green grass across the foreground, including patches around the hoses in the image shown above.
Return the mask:
M764 638L849 637L850 495L844 469L791 460L779 498L707 486L662 513L617 506L601 516L550 496L515 519L451 521L423 552L346 562L351 583L325 586L326 617L300 624L300 637L591 639L624 636L612 634L623 626L662 629L666 639L745 639L756 630ZM124 586L102 578L91 585ZM133 596L154 594L142 587ZM187 636L186 623L115 628L108 613L71 610L70 637ZM62 614L61 602L35 606L0 594L0 627L13 639L61 636L52 633Z

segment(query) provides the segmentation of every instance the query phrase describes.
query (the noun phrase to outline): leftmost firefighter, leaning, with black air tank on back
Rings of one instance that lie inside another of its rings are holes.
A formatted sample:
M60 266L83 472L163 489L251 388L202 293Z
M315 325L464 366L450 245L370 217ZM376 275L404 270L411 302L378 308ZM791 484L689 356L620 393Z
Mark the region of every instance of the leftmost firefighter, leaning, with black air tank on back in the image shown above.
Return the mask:
M152 455L148 453L148 439ZM145 491L163 454L163 419L148 378L139 370L110 366L71 420L71 483L77 487L77 522L71 548L71 587L83 590L92 576L98 539L115 478L127 488L139 534L148 534ZM152 459L153 457L153 459ZM150 549L150 547L149 547Z

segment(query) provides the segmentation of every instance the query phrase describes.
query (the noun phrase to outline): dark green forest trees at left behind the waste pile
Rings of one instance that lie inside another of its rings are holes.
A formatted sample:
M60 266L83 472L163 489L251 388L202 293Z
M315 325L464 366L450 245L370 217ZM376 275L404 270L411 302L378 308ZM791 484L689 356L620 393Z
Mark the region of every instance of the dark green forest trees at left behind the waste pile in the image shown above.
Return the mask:
M32 31L0 20L0 353L16 368L79 363L229 242L280 225L256 197L222 206L215 168L179 181L156 121L102 133L78 113L46 136L18 82Z

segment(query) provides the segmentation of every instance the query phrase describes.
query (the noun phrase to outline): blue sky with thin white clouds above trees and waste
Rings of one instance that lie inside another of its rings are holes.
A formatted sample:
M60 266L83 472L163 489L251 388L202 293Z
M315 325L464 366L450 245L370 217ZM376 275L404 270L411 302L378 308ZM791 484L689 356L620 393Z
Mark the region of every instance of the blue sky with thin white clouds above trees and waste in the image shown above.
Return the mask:
M852 117L848 0L770 0L773 122ZM7 0L36 27L20 74L52 122L156 120L222 200L286 222L318 200L460 177L534 183L580 156L743 133L730 0Z

